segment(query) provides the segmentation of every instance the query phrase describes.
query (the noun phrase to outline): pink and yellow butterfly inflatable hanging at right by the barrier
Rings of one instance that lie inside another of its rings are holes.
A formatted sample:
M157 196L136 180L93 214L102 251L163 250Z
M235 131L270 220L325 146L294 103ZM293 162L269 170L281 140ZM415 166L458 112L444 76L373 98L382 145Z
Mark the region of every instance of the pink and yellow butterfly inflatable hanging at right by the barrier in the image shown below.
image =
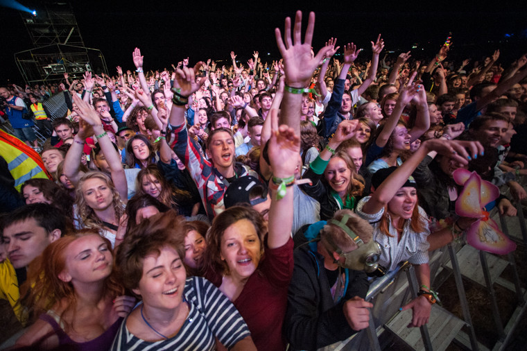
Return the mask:
M464 186L456 200L456 214L477 219L467 230L467 243L496 255L514 251L516 244L499 230L496 222L489 218L489 212L485 211L485 206L499 197L498 187L467 169L456 169L453 180Z

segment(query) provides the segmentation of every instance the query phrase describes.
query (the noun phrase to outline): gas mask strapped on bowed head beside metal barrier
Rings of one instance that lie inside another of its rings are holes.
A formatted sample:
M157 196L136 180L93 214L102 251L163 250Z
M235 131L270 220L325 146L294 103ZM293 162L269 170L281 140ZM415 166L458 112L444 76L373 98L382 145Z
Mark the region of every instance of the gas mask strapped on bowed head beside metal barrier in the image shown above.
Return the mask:
M322 242L325 243L325 246L327 246L327 249L329 249L330 252L337 252L340 257L344 257L344 263L340 261L336 262L339 266L353 269L354 271L365 271L365 273L377 271L379 259L381 258L381 246L379 246L379 243L373 239L370 240L369 243L364 243L364 241L346 225L348 219L349 216L345 214L340 221L330 219L327 223L336 225L338 228L344 230L354 243L356 243L358 248L349 252L343 252L329 237L325 237Z

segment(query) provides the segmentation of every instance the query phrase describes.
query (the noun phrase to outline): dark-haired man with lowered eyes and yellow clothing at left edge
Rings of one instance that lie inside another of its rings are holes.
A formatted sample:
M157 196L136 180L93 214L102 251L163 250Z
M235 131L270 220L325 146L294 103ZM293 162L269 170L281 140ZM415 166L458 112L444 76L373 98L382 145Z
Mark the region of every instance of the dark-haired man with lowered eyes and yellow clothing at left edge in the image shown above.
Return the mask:
M20 299L19 286L27 279L27 267L44 249L66 231L66 218L59 209L34 203L15 209L0 221L1 241L8 260L0 264L0 298L8 300L24 325L27 316Z

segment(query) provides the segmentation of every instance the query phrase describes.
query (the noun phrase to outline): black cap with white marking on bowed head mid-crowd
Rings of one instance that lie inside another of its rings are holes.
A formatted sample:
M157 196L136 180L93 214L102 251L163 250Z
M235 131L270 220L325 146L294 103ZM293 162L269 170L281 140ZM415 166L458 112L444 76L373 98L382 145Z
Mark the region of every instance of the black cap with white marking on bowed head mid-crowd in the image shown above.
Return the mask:
M223 196L223 202L226 209L237 203L248 203L254 206L267 200L267 192L267 186L263 182L253 176L244 176L230 183ZM250 198L254 199L250 200Z

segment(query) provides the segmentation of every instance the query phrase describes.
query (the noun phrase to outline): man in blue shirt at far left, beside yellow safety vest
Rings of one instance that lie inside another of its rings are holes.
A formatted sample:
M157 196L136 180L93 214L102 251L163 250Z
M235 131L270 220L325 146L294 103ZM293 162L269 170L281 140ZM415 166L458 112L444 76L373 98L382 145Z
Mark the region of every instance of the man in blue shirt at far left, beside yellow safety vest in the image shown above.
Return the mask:
M0 96L6 99L3 106L0 106L6 112L6 115L11 122L13 130L15 130L15 137L31 146L35 151L40 152L38 146L37 136L33 131L35 123L31 119L24 119L22 116L27 112L28 108L24 100L13 95L10 90L5 87L0 87Z

